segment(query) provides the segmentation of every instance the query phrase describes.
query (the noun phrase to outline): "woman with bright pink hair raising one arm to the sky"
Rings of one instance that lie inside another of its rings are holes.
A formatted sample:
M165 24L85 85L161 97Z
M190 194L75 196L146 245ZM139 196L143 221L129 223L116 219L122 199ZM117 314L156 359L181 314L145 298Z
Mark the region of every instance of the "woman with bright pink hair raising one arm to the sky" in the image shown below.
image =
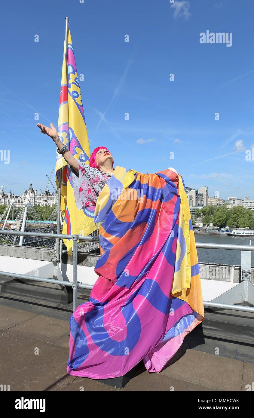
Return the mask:
M58 137L56 128L51 123L51 128L37 123L42 133L50 136L58 151L63 147L63 143ZM67 164L71 166L72 181L74 186L74 196L78 209L96 205L98 196L103 187L114 173L114 159L107 147L97 147L91 153L89 165L78 161L70 153L67 146L61 151Z

